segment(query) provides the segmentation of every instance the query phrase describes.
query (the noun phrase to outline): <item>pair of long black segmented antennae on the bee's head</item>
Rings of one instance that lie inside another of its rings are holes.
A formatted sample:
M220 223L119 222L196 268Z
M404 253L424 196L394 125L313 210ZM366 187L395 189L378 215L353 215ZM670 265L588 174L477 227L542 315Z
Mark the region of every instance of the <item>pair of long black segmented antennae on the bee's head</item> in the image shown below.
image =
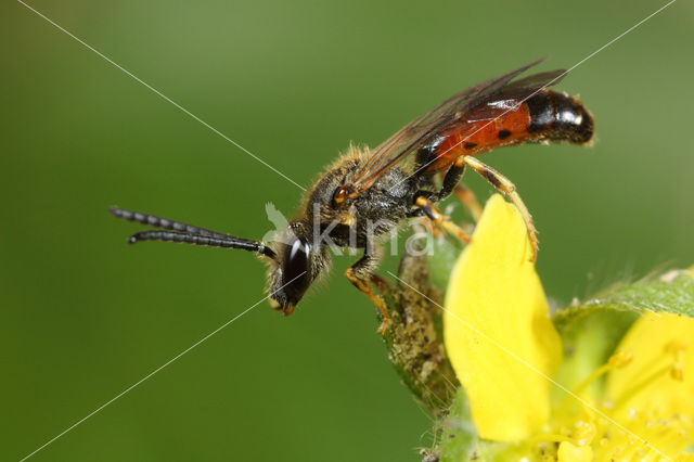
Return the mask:
M128 238L128 242L130 244L136 244L141 241L177 242L191 245L204 245L207 247L239 248L265 255L273 260L277 259L274 252L272 252L272 249L266 246L262 242L249 241L247 239L210 231L205 228L185 224L180 221L155 217L154 215L141 214L139 211L124 210L123 208L117 207L111 207L108 211L111 211L111 215L116 218L169 230L140 231Z

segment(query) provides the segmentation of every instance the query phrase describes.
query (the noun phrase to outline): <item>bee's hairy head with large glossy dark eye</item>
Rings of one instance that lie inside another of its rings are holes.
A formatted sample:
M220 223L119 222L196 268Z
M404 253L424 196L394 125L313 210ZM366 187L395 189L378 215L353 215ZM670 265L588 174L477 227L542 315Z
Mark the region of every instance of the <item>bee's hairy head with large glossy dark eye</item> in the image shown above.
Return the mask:
M324 246L314 245L310 238L306 228L294 222L272 243L277 255L269 272L270 300L273 308L285 316L294 311L308 287L329 265Z

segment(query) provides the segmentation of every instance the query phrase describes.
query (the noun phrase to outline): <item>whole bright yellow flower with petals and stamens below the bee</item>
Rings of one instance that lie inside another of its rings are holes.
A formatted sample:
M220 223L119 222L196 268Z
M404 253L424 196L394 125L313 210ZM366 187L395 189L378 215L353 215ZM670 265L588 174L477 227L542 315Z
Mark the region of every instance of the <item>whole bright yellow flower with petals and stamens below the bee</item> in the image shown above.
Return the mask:
M642 316L607 363L563 385L529 257L523 219L496 195L449 281L445 343L479 437L509 441L504 460L694 460L694 319Z

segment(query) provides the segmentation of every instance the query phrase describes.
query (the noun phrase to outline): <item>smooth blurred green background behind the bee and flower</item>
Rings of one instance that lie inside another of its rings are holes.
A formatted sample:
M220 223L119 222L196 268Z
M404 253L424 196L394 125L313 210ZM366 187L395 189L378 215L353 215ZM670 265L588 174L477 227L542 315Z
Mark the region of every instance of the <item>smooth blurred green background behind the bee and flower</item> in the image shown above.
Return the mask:
M377 144L545 54L541 69L571 66L664 3L30 4L307 185L349 140ZM21 3L0 15L0 460L17 460L264 296L253 256L129 247L141 227L110 205L259 238L265 204L288 213L300 191ZM593 149L485 157L535 214L558 305L694 262L693 18L676 2L566 77ZM429 419L343 278L350 261L294 316L261 304L34 460L420 460Z

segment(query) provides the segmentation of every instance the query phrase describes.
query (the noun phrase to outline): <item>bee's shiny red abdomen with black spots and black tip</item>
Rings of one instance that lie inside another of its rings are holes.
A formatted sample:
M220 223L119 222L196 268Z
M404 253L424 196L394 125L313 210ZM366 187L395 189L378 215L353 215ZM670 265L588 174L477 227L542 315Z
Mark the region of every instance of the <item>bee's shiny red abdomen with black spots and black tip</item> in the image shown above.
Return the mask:
M564 92L542 90L517 105L494 101L473 108L464 121L453 121L424 150L426 171L447 169L461 155L526 142L587 144L593 138L593 117L586 106ZM424 153L422 153L424 154Z

